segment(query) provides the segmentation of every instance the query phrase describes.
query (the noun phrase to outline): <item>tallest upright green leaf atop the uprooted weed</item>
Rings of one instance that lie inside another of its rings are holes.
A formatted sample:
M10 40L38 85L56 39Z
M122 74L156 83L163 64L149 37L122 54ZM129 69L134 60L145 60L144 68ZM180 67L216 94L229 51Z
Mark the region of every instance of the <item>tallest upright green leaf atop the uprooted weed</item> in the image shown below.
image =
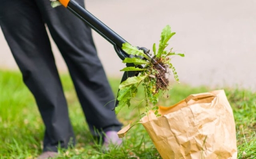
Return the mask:
M160 43L159 43L157 57L161 57L163 50L168 45L167 42L174 35L175 35L175 33L172 33L172 31L170 30L170 26L166 25L165 28L163 29L162 33L161 33L161 40L160 40Z

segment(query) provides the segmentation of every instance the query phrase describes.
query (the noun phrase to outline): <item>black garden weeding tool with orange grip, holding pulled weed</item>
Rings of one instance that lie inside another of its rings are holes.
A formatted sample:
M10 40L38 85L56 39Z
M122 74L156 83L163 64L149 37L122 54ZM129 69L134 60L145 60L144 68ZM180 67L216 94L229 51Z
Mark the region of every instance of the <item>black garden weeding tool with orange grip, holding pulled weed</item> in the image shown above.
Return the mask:
M56 0L51 0L56 1ZM115 48L115 51L121 60L125 58L132 58L133 56L127 54L124 50L122 50L123 43L126 43L122 37L112 31L108 26L106 26L103 22L97 19L94 15L92 15L88 10L81 7L74 0L57 0L61 5L70 10L74 15L80 18L83 22L90 26L94 31L96 31L103 38L108 40ZM53 5L53 4L52 4ZM150 59L150 62L157 63L157 61L151 56L150 50L145 47L138 47L143 50L144 54ZM126 64L126 66L131 66L133 64ZM157 64L160 68L164 69L160 64ZM133 65L134 66L134 65ZM136 66L143 67L143 66ZM139 71L126 71L123 74L121 82L125 81L128 77L136 76L139 74ZM116 105L118 101L116 102Z

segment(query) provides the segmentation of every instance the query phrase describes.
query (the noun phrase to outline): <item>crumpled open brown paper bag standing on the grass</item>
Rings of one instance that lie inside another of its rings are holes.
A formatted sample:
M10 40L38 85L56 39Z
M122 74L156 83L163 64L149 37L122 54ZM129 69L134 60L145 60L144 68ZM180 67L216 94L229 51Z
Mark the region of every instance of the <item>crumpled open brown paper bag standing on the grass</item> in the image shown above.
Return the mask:
M165 158L237 158L236 127L224 90L189 95L171 107L159 107L139 123ZM131 128L118 132L124 137Z

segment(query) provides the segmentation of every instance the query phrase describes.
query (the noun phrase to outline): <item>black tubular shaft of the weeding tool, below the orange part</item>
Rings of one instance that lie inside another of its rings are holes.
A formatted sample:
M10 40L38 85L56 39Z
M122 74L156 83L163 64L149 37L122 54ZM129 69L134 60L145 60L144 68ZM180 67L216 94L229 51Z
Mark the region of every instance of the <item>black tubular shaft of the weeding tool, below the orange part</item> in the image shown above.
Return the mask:
M83 22L89 25L93 30L95 30L103 38L105 38L111 44L113 44L121 60L124 60L124 58L129 57L129 55L121 49L122 44L126 43L126 41L122 37L120 37L118 34L116 34L113 30L111 30L108 26L106 26L103 22L97 19L94 15L92 15L88 10L84 9L77 2L73 0L69 1L67 9L69 9L73 14L75 14Z

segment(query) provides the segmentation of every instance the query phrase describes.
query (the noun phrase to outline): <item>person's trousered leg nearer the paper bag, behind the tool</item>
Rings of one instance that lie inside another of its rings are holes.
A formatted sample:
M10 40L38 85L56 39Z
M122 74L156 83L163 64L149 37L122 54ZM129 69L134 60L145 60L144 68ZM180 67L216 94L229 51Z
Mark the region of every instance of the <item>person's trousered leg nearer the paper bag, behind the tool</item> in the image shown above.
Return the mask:
M37 1L69 68L74 86L91 132L94 128L118 131L114 95L97 56L89 26L63 6L51 8L44 0ZM77 1L82 6L83 0Z

